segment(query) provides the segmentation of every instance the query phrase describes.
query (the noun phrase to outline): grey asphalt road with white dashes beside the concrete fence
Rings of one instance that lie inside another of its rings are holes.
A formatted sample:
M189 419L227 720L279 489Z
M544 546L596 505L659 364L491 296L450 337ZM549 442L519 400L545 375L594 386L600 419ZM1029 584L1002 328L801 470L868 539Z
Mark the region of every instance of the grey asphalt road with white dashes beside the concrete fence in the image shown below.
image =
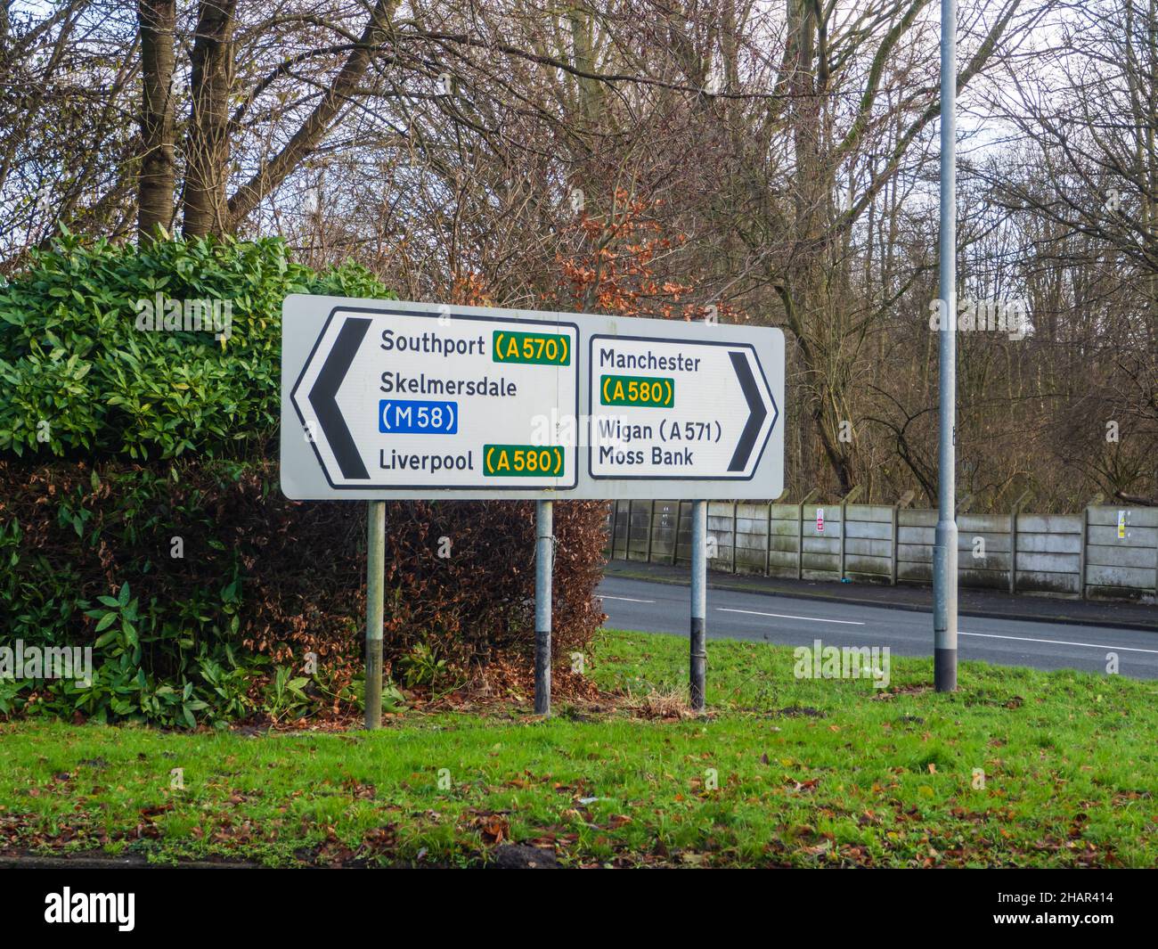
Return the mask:
M599 586L607 626L688 635L688 587L629 577ZM958 655L996 665L1078 669L1106 673L1117 654L1119 674L1158 679L1158 635L1029 620L961 616ZM932 656L932 614L833 601L812 601L732 590L708 591L708 637L785 645L889 647L896 656Z

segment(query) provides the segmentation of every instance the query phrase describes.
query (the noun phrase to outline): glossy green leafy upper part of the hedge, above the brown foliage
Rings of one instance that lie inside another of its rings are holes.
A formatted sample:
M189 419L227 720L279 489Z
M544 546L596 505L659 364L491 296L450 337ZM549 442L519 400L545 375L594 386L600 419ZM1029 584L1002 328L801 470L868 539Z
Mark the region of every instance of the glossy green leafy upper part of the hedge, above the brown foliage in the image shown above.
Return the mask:
M394 299L362 268L318 275L294 263L277 239L138 248L69 235L34 254L0 287L0 455L237 458L263 447L278 425L290 293ZM159 295L170 326L181 304L182 329L147 328ZM219 323L230 317L222 331L184 329L214 307Z

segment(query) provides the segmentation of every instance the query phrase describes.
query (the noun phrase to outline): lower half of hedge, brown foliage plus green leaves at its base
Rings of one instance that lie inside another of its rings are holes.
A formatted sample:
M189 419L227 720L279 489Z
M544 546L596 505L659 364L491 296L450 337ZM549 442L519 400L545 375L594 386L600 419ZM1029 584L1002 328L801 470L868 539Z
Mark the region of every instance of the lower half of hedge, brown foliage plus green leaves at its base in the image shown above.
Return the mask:
M97 670L91 689L28 682L23 700L177 725L284 715L303 705L290 684L313 652L312 710L352 710L366 505L288 501L277 483L270 461L167 472L0 461L0 642L90 645ZM384 645L408 685L432 684L439 662L529 655L533 514L529 502L388 504ZM603 518L599 502L557 504L557 655L602 621Z

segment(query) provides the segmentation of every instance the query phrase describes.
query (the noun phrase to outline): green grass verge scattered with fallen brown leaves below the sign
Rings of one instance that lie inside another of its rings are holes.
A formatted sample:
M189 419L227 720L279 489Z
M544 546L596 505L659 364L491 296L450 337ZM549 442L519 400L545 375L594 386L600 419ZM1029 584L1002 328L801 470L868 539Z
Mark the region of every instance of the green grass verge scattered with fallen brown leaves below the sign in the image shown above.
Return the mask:
M681 688L687 650L606 632L588 674ZM1158 684L963 663L960 691L938 695L918 688L930 662L894 658L882 698L796 679L790 648L709 655L701 720L557 706L547 722L410 713L374 735L8 723L0 846L472 864L501 831L564 863L1158 864Z

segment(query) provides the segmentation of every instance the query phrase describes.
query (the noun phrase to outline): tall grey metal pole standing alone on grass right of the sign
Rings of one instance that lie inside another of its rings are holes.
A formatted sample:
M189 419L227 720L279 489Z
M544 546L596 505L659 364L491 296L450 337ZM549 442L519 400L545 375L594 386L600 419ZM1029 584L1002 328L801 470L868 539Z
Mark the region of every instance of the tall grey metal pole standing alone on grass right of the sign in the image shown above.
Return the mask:
M957 688L957 0L941 0L940 440L933 547L933 682Z

